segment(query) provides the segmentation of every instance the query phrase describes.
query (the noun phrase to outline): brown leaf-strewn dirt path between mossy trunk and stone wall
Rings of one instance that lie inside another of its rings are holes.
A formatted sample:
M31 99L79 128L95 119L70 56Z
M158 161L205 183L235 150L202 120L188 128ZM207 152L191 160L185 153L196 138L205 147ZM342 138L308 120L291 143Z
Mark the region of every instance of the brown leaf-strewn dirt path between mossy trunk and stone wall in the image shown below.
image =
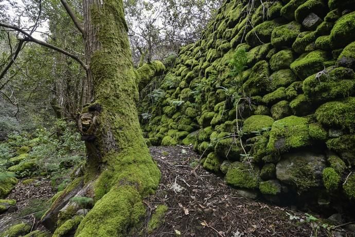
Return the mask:
M162 181L156 194L145 200L148 213L161 204L169 209L165 223L145 236L354 236L341 228L316 228L307 223L304 213L241 197L221 177L202 168L194 175L199 156L191 147L151 147L150 151ZM290 220L290 215L300 219Z

